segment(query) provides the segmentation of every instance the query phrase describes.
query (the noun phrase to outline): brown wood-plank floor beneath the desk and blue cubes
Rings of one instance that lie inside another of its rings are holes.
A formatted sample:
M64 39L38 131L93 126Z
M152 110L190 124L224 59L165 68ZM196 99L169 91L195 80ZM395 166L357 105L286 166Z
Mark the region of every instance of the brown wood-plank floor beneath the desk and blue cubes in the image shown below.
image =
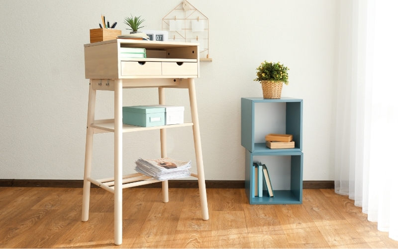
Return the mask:
M1 248L398 248L361 208L332 189L304 189L302 205L249 205L244 189L123 190L123 244L113 244L113 195L92 188L0 188Z

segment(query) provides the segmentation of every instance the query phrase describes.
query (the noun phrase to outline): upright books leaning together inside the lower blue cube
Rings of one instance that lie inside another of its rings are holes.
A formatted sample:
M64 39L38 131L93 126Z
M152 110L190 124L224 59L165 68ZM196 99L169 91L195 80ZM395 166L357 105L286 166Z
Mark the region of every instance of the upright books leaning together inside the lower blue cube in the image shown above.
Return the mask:
M261 163L253 163L254 169L254 196L263 197L263 183L267 188L267 195L274 197L274 190L272 190L270 174L267 166Z

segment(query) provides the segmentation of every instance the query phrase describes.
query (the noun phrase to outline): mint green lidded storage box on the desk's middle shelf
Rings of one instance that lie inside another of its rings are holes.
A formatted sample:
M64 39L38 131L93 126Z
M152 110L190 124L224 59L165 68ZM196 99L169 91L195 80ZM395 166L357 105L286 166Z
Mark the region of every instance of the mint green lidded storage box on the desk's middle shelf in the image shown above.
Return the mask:
M164 107L155 106L123 106L123 124L142 127L165 125Z

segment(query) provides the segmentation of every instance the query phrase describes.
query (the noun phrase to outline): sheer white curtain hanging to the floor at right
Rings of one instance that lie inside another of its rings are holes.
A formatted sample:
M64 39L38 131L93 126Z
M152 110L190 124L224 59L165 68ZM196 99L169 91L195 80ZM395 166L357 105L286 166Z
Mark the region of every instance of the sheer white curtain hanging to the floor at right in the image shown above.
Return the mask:
M341 0L335 192L398 240L398 1Z

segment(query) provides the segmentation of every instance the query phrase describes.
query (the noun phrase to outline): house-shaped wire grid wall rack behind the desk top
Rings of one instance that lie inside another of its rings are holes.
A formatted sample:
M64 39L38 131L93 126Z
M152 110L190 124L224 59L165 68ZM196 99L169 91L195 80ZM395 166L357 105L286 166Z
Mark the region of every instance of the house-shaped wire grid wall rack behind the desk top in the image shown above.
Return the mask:
M181 29L170 31L171 20L181 21ZM203 31L193 32L193 21L203 22ZM181 2L163 17L162 30L169 32L169 41L199 43L200 61L212 61L209 58L208 18L188 1Z

